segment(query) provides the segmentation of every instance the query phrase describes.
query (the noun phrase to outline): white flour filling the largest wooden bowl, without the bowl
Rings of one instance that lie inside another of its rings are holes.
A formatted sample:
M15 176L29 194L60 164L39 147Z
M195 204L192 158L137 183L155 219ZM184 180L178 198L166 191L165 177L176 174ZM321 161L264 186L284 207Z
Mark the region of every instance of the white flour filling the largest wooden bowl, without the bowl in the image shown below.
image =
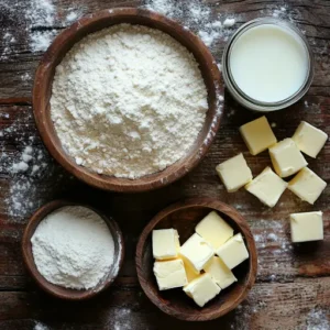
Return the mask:
M129 24L74 46L57 66L51 106L78 165L128 178L185 156L208 109L194 56L161 31Z

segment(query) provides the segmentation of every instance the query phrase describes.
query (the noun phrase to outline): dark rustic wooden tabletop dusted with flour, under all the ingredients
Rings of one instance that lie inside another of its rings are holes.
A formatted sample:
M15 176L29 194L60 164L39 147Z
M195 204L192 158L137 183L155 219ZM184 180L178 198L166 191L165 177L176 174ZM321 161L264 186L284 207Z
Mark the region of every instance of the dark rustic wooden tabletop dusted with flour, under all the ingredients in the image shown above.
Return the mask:
M197 20L199 25L194 25L194 18L185 10L196 1L151 2L160 10L168 9L168 14L190 24L195 32L207 24L202 19ZM33 75L44 48L54 35L81 14L142 4L141 1L119 0L54 0L53 6L51 0L0 1L0 328L330 329L330 189L326 189L314 207L286 191L273 209L262 206L243 189L227 194L215 173L218 163L243 152L254 175L270 165L266 152L257 157L248 153L238 132L242 123L257 114L238 106L229 95L226 95L221 128L207 157L189 175L156 191L123 195L90 188L70 177L44 150L31 105ZM209 10L206 20L220 15L223 21L231 14L235 18L235 25L227 35L257 16L274 15L294 21L306 33L314 50L316 76L300 102L267 117L278 139L290 136L300 120L330 134L329 1L206 0L200 8ZM220 33L212 45L219 63L224 34ZM26 146L33 148L29 168L13 173L12 165L20 162ZM329 182L329 143L318 160L308 158L308 162L310 168ZM141 290L134 267L136 240L150 219L170 202L196 196L218 198L241 211L252 228L258 251L257 282L246 301L224 318L208 323L178 321L157 310ZM127 255L121 275L112 288L90 301L66 302L47 296L22 265L20 241L29 216L55 198L92 204L113 216L123 231ZM293 246L288 215L308 210L323 211L324 240Z

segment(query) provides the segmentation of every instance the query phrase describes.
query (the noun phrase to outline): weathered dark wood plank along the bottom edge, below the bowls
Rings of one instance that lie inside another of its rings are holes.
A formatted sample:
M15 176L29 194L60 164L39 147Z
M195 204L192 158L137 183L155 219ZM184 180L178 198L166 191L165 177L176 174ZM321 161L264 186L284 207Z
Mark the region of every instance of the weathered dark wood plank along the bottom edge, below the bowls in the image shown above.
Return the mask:
M1 329L31 327L43 321L51 329L307 329L330 327L330 278L286 284L257 284L249 298L227 317L206 322L177 321L156 309L135 286L116 286L97 299L80 304L56 300L38 292L0 293ZM317 308L315 306L317 305ZM59 319L61 316L61 319ZM1 321L2 320L2 321ZM11 320L11 321L3 321ZM317 323L318 322L318 323Z

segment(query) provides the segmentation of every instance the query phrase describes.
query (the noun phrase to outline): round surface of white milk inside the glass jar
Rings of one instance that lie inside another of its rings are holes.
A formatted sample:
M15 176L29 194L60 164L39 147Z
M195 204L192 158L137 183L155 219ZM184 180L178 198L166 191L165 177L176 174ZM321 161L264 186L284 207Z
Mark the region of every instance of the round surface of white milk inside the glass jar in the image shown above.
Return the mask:
M278 102L304 85L309 57L298 35L274 24L250 29L232 46L229 65L239 88L262 102Z

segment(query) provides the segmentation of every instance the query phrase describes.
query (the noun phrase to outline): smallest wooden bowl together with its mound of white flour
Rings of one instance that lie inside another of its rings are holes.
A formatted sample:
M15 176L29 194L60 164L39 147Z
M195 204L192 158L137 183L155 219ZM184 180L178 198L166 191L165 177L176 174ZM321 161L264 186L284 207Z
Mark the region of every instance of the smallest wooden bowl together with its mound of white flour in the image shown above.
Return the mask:
M38 286L68 300L91 298L109 287L124 257L122 233L113 219L89 206L63 200L32 216L22 250Z

